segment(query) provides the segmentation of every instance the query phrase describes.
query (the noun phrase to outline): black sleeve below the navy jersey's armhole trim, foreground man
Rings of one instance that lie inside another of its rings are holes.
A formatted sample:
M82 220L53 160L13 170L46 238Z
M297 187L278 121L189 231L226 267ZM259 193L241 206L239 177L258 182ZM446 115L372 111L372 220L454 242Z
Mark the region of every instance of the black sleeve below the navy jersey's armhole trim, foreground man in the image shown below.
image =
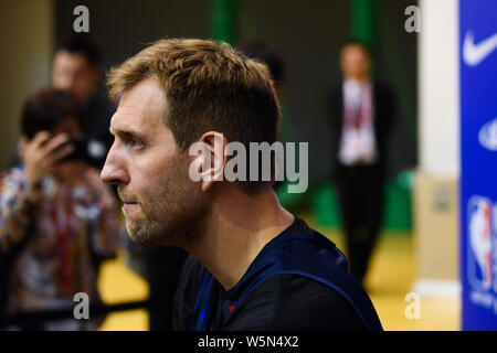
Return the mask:
M254 289L226 330L363 330L335 289L298 275L277 275Z

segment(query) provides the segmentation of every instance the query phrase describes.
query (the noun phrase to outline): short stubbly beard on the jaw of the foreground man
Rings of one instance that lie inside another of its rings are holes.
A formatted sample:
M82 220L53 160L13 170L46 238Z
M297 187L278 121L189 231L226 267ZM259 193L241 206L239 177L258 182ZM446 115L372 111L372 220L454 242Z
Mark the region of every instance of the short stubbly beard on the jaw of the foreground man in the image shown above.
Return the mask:
M126 217L130 238L146 246L184 247L198 240L204 233L207 217L204 201L198 192L192 181L170 174L148 200L139 200L138 216Z

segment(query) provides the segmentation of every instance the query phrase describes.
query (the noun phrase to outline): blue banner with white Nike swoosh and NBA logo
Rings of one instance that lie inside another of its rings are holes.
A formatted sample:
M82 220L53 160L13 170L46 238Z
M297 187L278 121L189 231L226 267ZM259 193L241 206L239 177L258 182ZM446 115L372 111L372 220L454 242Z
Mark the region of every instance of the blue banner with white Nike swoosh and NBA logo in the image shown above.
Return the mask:
M497 0L459 0L463 330L497 330Z

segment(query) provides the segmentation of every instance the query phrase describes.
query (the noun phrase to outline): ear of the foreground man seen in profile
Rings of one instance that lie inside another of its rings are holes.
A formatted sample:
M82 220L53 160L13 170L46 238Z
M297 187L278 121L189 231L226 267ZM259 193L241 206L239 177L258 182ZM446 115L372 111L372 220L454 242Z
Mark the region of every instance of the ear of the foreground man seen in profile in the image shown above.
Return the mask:
M202 175L202 191L209 190L214 181L224 180L224 165L228 161L228 140L216 131L209 131L199 139L204 146L202 165L200 174Z

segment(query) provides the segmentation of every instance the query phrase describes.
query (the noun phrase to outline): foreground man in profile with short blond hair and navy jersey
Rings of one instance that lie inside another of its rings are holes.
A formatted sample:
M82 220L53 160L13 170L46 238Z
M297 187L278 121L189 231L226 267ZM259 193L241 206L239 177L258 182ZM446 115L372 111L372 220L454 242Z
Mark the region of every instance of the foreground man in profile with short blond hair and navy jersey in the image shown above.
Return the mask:
M113 68L108 86L120 99L101 176L118 186L128 233L191 254L175 329L381 330L343 254L281 206L271 180L218 178L230 142L277 139L264 64L226 43L161 40Z

